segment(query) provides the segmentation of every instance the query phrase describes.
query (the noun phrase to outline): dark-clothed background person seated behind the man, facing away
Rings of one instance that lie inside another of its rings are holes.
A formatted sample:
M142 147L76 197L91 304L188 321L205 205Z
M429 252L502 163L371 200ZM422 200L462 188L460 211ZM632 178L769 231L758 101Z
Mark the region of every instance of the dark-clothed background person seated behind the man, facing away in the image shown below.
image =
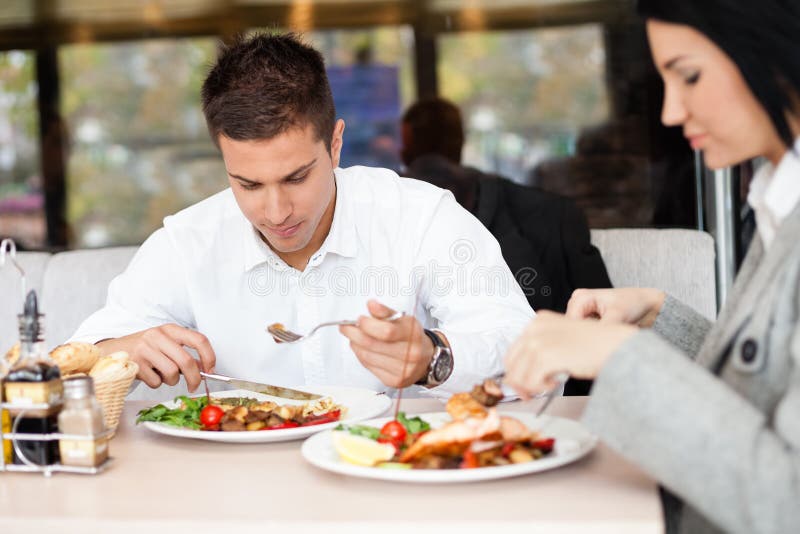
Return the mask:
M586 219L570 199L461 165L464 130L453 103L430 98L409 107L402 143L405 175L449 189L486 226L534 310L563 312L575 289L611 287ZM589 389L589 382L571 381L566 393Z

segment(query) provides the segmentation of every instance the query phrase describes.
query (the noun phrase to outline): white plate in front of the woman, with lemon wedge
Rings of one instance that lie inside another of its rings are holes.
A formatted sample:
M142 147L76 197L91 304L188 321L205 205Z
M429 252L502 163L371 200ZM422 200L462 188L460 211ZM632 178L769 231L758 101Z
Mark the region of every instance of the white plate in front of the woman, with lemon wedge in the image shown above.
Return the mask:
M392 482L414 483L457 483L476 482L479 480L494 480L499 478L516 477L530 473L538 473L555 469L575 462L592 451L597 445L597 437L591 434L577 421L561 417L540 416L538 419L533 414L524 412L501 412L519 419L532 430L537 430L543 438L555 438L553 452L547 456L523 464L501 465L497 467L480 467L476 469L387 469L380 467L362 467L349 464L339 458L333 448L333 431L320 432L308 438L303 443L303 457L311 464L343 475L362 478L375 478ZM450 416L445 412L420 414L424 420L436 428L450 421ZM359 424L380 428L390 418L374 419Z

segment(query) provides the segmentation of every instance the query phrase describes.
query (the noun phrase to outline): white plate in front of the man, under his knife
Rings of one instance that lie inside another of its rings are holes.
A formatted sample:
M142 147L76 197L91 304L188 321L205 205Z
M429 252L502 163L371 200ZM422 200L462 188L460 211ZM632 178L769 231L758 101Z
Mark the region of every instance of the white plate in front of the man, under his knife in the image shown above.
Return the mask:
M342 420L335 423L325 423L322 425L241 432L209 432L206 430L192 430L188 428L178 428L175 426L165 425L164 423L156 423L153 421L145 421L142 423L142 425L153 432L179 438L205 439L208 441L224 441L227 443L269 443L275 441L291 441L295 439L301 439L316 432L332 429L339 423L355 423L356 421L369 419L370 417L377 417L384 413L392 404L391 399L386 395L382 393L376 393L375 391L370 391L368 389L340 386L304 387L308 391L312 391L314 393L329 395L333 398L336 404L343 406L346 409L346 412L344 417L342 417ZM253 391L245 391L241 389L216 391L212 393L211 396L217 398L250 397L259 400L269 400L278 404L303 404L303 401L272 397L270 395L264 395L262 393L255 393ZM168 408L174 408L177 405L175 401L162 402L161 404L167 406Z

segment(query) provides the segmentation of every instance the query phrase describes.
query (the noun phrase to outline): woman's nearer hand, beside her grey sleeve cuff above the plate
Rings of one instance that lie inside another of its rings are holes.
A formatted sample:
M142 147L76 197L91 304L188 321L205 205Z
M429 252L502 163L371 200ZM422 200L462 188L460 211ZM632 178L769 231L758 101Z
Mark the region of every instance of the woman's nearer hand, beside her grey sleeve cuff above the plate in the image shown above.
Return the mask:
M538 312L506 354L504 382L527 398L553 387L551 377L561 371L595 378L609 356L637 331L627 324Z

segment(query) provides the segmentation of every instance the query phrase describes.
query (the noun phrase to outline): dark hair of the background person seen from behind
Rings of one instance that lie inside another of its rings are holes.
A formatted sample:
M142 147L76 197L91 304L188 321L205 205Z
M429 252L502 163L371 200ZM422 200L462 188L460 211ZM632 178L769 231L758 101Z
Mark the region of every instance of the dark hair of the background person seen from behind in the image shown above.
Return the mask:
M439 154L453 163L461 163L464 127L461 112L444 98L427 98L413 104L403 115L403 125L410 134L404 139L403 163L411 165L427 154Z

